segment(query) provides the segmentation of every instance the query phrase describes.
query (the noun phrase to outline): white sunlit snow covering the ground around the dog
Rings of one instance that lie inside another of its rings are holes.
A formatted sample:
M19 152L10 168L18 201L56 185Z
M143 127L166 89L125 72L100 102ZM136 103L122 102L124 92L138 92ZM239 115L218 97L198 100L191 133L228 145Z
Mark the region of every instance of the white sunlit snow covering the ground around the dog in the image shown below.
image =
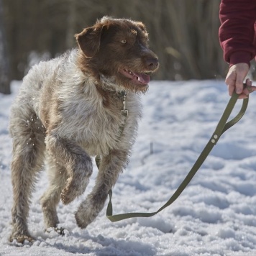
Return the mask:
M87 229L76 227L82 198L60 204L65 236L45 232L40 175L29 212L37 240L8 241L11 233L12 141L8 134L12 95L0 94L0 255L241 256L256 255L256 95L242 120L222 135L180 197L151 218L112 223L105 211ZM156 211L173 195L209 141L229 101L224 81L152 81L142 96L144 116L127 170L113 189L114 214ZM237 114L242 101L234 109ZM91 191L96 165L86 193ZM85 193L85 194L86 194ZM83 197L86 195L83 195Z

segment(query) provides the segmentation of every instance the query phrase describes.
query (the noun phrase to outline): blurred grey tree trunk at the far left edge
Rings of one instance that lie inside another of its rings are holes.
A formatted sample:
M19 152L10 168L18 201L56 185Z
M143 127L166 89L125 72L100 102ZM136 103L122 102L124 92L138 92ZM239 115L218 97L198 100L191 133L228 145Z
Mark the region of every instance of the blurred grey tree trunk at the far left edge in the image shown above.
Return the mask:
M3 4L0 0L0 93L11 93L9 81L9 60L4 35Z

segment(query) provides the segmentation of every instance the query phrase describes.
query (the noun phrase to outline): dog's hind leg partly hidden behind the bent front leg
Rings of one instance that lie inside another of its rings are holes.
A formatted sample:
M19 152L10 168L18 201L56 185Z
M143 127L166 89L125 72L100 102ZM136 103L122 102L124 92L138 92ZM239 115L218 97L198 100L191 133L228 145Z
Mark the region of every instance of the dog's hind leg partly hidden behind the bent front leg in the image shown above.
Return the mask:
M60 201L60 193L65 187L67 170L53 160L52 157L47 156L47 173L50 184L41 198L46 229L50 227L55 228L59 223L56 206Z

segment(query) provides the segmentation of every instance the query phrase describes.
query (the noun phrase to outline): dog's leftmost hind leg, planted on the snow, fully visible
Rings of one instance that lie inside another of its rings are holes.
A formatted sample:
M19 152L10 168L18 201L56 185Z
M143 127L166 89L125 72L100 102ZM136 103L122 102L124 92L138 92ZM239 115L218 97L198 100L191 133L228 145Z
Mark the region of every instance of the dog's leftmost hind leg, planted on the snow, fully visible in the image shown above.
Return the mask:
M12 109L10 133L13 138L12 158L12 234L10 241L32 242L27 228L29 203L36 175L44 161L44 128L29 106Z

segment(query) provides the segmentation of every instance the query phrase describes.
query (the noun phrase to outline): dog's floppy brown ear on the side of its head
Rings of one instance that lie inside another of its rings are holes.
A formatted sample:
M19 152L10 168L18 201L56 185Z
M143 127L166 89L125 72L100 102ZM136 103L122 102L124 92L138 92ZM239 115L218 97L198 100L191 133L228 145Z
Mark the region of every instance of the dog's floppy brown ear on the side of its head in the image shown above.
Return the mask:
M80 34L75 35L78 45L86 57L92 58L99 50L102 28L102 26L88 27L83 29Z

